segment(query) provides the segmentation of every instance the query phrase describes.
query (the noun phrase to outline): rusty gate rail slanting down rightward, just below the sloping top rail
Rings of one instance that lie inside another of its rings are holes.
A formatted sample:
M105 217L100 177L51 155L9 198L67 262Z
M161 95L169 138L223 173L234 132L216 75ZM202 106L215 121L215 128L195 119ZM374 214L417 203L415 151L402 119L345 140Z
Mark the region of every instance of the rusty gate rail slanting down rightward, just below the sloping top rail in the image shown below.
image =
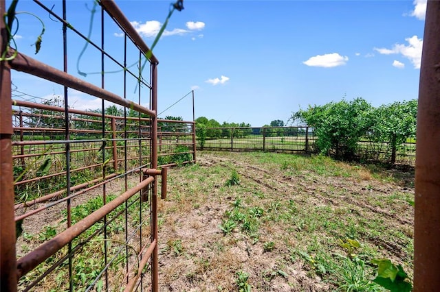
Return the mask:
M8 56L12 56L13 53L14 51L11 49L8 53ZM113 104L118 104L120 106L125 106L126 108L131 108L133 110L137 110L138 112L148 114L151 117L155 116L155 112L153 112L152 110L148 110L148 108L144 108L139 104L135 104L133 101L123 99L119 95L115 95L114 93L95 86L94 84L85 82L84 80L80 80L77 77L74 77L52 66L34 60L29 56L25 56L22 53L17 53L17 56L14 58L14 60L10 61L9 64L14 70L30 73L45 80L49 80L57 84L62 84L68 86L69 88L74 88L83 93L93 95L94 97L99 97L101 99L111 101L113 102Z

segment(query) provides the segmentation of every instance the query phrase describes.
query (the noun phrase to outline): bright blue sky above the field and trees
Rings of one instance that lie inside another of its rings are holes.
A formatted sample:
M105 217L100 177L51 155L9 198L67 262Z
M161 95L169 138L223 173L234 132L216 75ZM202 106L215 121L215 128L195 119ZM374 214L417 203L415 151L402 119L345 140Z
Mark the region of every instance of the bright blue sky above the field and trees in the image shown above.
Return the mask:
M61 10L60 2L53 3L54 10ZM68 3L71 23L87 32L87 8L93 1ZM170 1L116 3L151 45ZM363 97L373 106L418 97L426 1L187 0L184 7L174 12L154 50L159 60L159 112L195 90L196 117L258 127L275 119L286 122L292 112L309 104L343 97ZM34 4L19 1L18 10L33 11ZM20 16L17 47L59 68L61 28L49 19L45 23L41 52L34 55L31 44L39 33L38 23ZM117 50L120 30L106 29L107 48ZM70 44L69 68L80 77L75 67L84 44ZM95 57L86 51L82 70L93 70ZM87 75L85 80L96 83L98 77ZM14 73L12 78L18 90L34 96L63 93L59 86L34 77ZM80 93L72 93L71 102L78 109L100 106L98 99ZM146 101L142 104L148 106ZM191 95L161 116L165 115L191 120Z

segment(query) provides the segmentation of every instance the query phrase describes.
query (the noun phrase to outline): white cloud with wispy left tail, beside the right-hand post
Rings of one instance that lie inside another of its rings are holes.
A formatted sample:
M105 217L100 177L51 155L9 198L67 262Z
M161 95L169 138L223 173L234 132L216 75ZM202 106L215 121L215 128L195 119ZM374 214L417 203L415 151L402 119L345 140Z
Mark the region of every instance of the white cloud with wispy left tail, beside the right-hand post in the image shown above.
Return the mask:
M408 42L408 45L395 44L392 49L374 48L374 50L384 55L400 53L402 56L411 61L415 69L420 69L421 47L423 45L423 40L417 36L405 38L405 40Z

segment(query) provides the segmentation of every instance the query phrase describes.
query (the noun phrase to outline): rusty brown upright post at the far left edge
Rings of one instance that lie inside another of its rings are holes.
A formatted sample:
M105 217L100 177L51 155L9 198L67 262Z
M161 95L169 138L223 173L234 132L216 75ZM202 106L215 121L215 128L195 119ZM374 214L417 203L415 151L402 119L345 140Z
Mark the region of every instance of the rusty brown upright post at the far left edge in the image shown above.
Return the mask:
M5 1L0 1L0 14ZM5 51L8 32L0 21L0 53ZM15 259L14 179L12 175L11 75L6 62L0 62L0 291L17 291Z

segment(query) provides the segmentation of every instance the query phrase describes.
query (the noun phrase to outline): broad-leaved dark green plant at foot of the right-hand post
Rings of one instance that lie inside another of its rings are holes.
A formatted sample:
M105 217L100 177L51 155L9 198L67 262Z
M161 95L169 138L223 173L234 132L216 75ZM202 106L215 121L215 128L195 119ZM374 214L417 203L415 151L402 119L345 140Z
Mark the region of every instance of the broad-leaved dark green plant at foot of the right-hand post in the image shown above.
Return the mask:
M388 258L373 259L371 263L377 265L377 277L373 282L391 292L409 292L412 284L408 274L401 265L394 265Z

